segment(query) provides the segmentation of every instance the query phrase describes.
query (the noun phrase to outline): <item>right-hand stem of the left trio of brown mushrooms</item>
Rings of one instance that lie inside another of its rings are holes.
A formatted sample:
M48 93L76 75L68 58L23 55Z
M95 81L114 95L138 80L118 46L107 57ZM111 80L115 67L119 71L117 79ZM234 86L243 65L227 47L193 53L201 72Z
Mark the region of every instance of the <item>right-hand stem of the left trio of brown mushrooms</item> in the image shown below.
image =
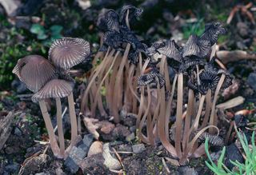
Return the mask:
M74 110L74 97L73 93L67 97L70 109L70 123L71 123L71 145L75 144L78 137L78 121Z

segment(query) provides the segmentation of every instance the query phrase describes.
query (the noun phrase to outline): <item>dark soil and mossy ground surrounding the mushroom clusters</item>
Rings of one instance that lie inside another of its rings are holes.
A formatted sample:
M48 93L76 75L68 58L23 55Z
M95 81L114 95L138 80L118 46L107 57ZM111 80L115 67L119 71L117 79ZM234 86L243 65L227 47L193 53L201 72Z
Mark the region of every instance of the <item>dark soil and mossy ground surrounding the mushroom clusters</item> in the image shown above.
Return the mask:
M32 5L30 3L36 1L22 2L25 5L21 6L16 16L12 18L8 18L0 6L0 121L10 111L15 113L14 120L10 125L10 136L0 150L0 174L17 174L18 172L20 174L42 172L70 174L70 167L63 161L55 160L50 149L46 149L46 145L43 144L45 142L39 144L39 141L48 139L40 109L37 104L30 101L30 92L14 78L11 70L18 58L22 58L26 54L46 56L51 40L59 36L85 38L93 46L94 54L98 49L99 39L98 29L95 26L98 12L103 7L118 9L126 1L91 1L91 6L86 10L82 10L77 2L71 0L45 0ZM146 44L160 38L174 38L183 43L190 34L201 34L207 22L226 23L230 11L237 4L239 1L200 1L197 3L175 0L136 1L134 5L143 7L145 13L140 21L143 22L143 25L140 22L135 22L134 30L145 40ZM152 11L154 13L151 13ZM252 13L255 17L255 9ZM33 24L43 26L41 30L46 37L32 34ZM54 30L51 28L52 26L55 26ZM228 34L218 40L220 50L246 50L248 53L255 53L256 30L250 18L246 18L241 13L235 14L234 19L230 25L226 25L226 28ZM252 60L241 59L225 64L227 70L237 81L237 87L222 93L219 101L237 96L246 99L242 105L230 109L230 113L240 109L255 108L255 63ZM83 75L76 78L76 87L82 87L82 82L86 80L84 73L88 69L90 69L90 65L87 63L76 68L76 70L82 70ZM79 91L77 90L74 92L74 97L78 97L78 95ZM54 115L54 104L50 103L50 106L52 107L50 113ZM65 107L66 103L63 103L63 109ZM78 109L78 106L76 108ZM256 121L255 113L250 113L246 119L251 122ZM54 122L56 123L56 121ZM136 137L135 120L132 117L122 121L120 125L114 125L112 121L102 120L102 122L108 122L106 125L113 126L113 129L110 133L102 132L99 140L103 145L110 143L111 148L118 151L122 158L122 169L126 174L193 174L191 173L193 171L194 174L196 174L195 172L210 174L210 170L204 163L205 157L190 160L186 167L179 168L165 159L166 168L162 158L170 157L170 155L161 145L155 147L145 145L145 148L140 148L138 153L134 153L132 146L141 142ZM66 125L67 127L70 125L68 119L66 119ZM228 124L220 125L220 127L225 131L228 129ZM88 131L82 125L82 137L86 134ZM44 151L46 153L42 155ZM32 159L33 157L34 159ZM28 163L28 160L31 159L32 161ZM83 169L84 173L116 174L110 172L102 164L101 155L87 157L86 162L88 162L88 166ZM166 169L170 169L170 172ZM82 169L78 169L78 174L82 174Z

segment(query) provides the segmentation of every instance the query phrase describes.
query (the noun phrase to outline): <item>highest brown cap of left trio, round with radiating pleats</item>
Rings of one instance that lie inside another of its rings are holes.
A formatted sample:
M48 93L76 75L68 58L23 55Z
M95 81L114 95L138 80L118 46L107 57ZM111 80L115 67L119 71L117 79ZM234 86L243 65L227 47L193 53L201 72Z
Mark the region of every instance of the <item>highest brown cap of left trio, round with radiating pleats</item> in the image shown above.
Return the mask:
M82 38L56 39L50 46L49 59L54 66L68 70L90 54L90 44Z

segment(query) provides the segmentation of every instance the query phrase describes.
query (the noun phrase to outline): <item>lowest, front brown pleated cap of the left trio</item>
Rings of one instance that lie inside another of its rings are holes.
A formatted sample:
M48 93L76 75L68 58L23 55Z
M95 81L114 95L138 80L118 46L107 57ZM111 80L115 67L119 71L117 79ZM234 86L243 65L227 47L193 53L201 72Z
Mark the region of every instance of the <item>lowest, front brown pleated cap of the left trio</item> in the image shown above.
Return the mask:
M46 98L67 97L72 93L74 84L61 79L53 79L47 82L37 93L34 93L32 101L37 102Z

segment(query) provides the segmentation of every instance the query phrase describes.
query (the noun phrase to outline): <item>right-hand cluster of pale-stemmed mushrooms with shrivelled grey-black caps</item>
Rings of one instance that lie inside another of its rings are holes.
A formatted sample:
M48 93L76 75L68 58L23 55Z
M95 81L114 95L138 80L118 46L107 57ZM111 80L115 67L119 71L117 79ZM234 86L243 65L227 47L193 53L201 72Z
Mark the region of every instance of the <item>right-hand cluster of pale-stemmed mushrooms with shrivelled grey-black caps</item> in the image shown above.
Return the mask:
M225 32L222 25L215 22L206 25L201 36L192 34L184 46L166 40L154 42L145 52L151 57L160 54L162 58L161 62L149 72L146 71L146 67L150 67L148 58L138 78L138 85L141 86L140 110L137 118L138 136L151 145L160 139L162 145L172 156L178 157L181 164L187 157L193 157L193 153L200 149L197 147L197 140L206 129L209 129L210 134L215 133L214 128L216 129L218 122L215 111L218 93L232 83L230 74L215 66L216 42L218 36ZM176 73L172 85L170 85L168 66ZM178 84L177 89L176 84ZM183 95L186 87L188 100L184 110ZM172 145L169 132L174 93L177 94L177 107L174 123L175 144ZM152 102L153 97L157 99L154 102ZM152 107L154 111L150 111ZM142 132L143 127L146 128L144 129L146 132Z

